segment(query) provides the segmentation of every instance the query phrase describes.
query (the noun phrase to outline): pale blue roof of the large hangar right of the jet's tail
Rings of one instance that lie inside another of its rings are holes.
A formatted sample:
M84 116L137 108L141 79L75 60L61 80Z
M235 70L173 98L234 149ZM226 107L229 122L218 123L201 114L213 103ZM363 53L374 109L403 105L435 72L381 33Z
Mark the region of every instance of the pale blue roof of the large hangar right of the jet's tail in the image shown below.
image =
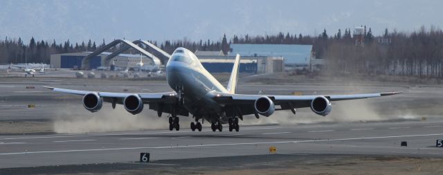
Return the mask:
M312 45L300 44L230 44L233 56L284 57L284 64L309 64Z

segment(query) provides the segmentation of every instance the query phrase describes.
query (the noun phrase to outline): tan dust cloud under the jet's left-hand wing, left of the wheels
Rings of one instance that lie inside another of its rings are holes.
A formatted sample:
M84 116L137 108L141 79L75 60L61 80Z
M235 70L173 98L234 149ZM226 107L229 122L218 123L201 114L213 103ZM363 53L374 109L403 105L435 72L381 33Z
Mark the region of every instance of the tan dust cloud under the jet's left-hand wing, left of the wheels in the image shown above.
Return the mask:
M103 104L100 111L90 113L81 105L69 106L59 111L58 118L53 122L56 133L89 133L106 131L135 131L141 129L165 129L168 118L163 113L158 118L156 113L143 109L142 113L132 115L122 105L112 109L110 104Z

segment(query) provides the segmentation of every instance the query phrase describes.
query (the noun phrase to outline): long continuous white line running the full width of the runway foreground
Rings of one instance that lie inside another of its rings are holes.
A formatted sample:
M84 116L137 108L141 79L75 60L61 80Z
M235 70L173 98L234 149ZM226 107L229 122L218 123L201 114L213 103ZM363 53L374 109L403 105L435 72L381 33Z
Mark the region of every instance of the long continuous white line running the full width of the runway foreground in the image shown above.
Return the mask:
M417 135L403 135L403 136L376 136L376 137L361 137L361 138L335 138L335 139L320 139L320 140L287 140L280 142L237 142L237 143L220 143L208 145L177 145L177 146L162 146L162 147L119 147L119 148L103 148L103 149L70 149L57 151L29 151L29 152L10 152L0 153L0 156L15 155L15 154L44 154L44 153L64 153L64 152L83 152L83 151L114 151L114 150L128 150L128 149L170 149L170 148L189 148L189 147L215 147L215 146L234 146L234 145L270 145L278 143L300 143L300 142L331 142L341 140L368 140L378 138L408 138L418 136L443 136L443 133L417 134ZM426 148L420 148L426 149ZM432 149L435 150L435 149Z

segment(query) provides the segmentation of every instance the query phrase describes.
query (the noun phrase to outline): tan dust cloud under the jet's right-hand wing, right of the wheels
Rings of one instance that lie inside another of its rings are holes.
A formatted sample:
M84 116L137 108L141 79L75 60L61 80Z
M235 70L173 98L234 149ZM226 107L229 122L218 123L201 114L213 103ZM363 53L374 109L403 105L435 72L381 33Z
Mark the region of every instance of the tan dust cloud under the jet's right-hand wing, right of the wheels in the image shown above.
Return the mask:
M362 87L360 86L354 86L351 84L349 88L354 89L354 91L348 92L347 94L368 93L368 91L360 91L359 89L362 89ZM256 120L254 117L245 118L242 123L244 125L300 125L336 122L382 122L419 119L419 117L415 116L411 111L405 109L396 109L390 103L391 101L392 96L338 101L332 102L332 111L327 116L319 116L311 111L310 108L302 108L296 109L296 115L291 113L291 111L275 111L275 113L268 118L264 116L260 116L260 120Z

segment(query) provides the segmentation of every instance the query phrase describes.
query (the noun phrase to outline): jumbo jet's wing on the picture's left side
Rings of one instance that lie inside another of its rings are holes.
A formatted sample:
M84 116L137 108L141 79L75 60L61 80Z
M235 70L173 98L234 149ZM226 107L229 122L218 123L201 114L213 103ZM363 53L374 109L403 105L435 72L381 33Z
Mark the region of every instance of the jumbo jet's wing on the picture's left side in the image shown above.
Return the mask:
M150 109L154 111L161 111L164 113L172 113L174 105L177 103L177 93L174 91L165 93L111 93L100 91L81 91L73 89L61 89L50 86L43 86L44 88L51 89L55 92L69 93L74 95L87 95L89 93L97 93L104 102L110 102L115 104L123 104L123 100L129 95L138 95L143 100L144 104L149 104ZM189 116L188 111L183 107L180 107L179 115Z

